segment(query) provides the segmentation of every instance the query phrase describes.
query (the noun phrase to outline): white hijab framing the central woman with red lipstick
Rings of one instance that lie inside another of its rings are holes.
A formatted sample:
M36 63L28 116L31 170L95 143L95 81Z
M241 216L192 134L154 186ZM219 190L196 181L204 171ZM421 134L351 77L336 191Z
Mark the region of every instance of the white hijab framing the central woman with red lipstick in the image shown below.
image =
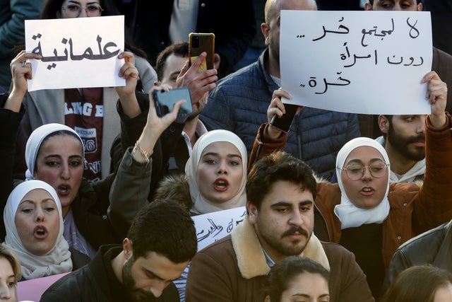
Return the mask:
M236 146L237 149L239 149L240 156L242 156L242 169L243 169L242 182L240 183L240 188L239 191L237 192L237 195L235 195L232 199L228 200L227 202L222 202L221 204L215 204L205 199L201 195L201 192L199 192L198 182L196 182L196 170L198 168L199 160L201 159L201 154L208 145L215 143L217 141L227 141ZM193 211L195 214L206 214L213 211L220 211L223 209L232 209L235 207L244 206L246 204L245 185L246 185L246 167L248 163L247 158L248 153L246 153L246 146L243 143L242 139L237 137L236 134L222 129L213 130L207 132L206 134L203 134L198 139L198 141L196 141L196 144L193 147L193 152L191 153L191 156L185 165L185 174L189 182L190 196L191 200L194 202L194 209L192 209L191 211Z

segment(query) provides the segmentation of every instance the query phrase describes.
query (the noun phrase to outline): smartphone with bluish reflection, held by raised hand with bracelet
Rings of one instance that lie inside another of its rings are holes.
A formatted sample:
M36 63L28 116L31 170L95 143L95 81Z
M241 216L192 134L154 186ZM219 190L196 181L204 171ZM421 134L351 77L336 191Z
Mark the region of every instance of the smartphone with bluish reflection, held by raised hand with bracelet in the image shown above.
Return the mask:
M153 98L155 103L155 110L157 115L162 117L172 110L174 104L179 102L179 100L186 100L182 104L179 112L177 113L176 122L184 123L193 113L193 107L191 106L191 96L189 88L174 88L170 91L153 91Z

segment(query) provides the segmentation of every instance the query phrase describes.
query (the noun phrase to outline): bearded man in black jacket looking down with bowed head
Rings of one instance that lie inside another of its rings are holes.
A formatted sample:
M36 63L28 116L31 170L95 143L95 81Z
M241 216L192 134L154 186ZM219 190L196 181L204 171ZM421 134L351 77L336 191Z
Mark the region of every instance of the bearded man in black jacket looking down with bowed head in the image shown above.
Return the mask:
M138 211L122 245L102 245L88 265L52 284L40 301L178 302L172 281L197 245L189 212L155 200Z

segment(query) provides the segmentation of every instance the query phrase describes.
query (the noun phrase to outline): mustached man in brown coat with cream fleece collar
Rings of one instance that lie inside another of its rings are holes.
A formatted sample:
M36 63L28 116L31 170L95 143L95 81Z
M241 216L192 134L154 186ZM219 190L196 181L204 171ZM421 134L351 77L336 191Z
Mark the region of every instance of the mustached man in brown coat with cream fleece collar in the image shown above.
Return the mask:
M244 221L191 261L186 302L262 302L270 267L293 255L331 272L331 302L374 301L355 256L314 236L316 180L306 163L271 153L250 170L246 196Z

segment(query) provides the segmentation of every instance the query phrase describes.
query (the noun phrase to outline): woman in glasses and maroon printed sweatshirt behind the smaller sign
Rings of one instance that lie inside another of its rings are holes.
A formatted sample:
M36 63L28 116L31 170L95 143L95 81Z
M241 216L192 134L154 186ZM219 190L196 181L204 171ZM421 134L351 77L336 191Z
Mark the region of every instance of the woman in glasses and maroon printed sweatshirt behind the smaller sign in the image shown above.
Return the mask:
M47 0L41 18L91 18L114 15L119 15L119 12L112 0ZM157 81L157 74L145 59L145 52L133 45L127 31L125 31L124 41L124 50L134 54L134 64L138 69L140 78L136 89L148 93ZM93 74L93 78L95 76ZM119 91L112 87L44 89L28 92L23 100L27 108L21 123L23 137L28 137L42 124L52 122L78 129L79 134L85 133L82 139L90 142L87 144L89 150L85 150L88 169L83 171L83 176L92 181L105 179L111 170L109 151L112 142L121 132L116 108L118 93ZM76 110L78 106L93 108L93 110L78 112L79 110ZM25 149L25 139L18 142L17 150L23 149ZM17 166L15 170L23 173L26 168L23 162L20 164L22 166ZM23 178L23 175L16 175L16 177Z

